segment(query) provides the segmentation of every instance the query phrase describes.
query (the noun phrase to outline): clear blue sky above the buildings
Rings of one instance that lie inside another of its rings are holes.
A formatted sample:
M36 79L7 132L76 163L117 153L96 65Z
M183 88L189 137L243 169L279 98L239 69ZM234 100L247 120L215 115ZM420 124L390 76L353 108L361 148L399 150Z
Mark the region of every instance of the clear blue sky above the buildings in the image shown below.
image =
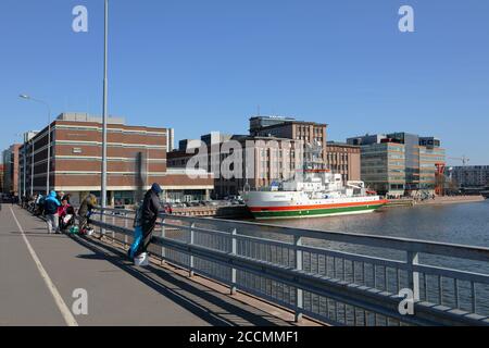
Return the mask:
M398 29L402 4L415 33ZM328 123L333 140L435 135L489 164L488 16L486 0L111 0L110 113L180 139L246 133L261 105ZM21 92L101 113L102 0L2 0L0 37L1 148L46 124Z

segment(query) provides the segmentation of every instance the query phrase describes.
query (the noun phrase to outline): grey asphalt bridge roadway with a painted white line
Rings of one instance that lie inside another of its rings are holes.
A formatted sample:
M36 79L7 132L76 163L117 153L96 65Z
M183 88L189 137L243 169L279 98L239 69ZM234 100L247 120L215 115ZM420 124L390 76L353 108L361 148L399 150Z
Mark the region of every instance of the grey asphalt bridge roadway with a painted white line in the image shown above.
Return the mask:
M0 211L0 326L289 325L171 271L135 268L98 240L48 235L11 204Z

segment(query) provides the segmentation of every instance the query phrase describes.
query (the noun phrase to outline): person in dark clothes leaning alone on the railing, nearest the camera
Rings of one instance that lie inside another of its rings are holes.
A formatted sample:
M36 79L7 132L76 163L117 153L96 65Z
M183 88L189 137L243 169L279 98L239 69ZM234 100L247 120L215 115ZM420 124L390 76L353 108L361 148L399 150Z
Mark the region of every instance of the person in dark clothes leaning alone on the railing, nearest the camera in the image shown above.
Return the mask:
M135 245L129 249L129 254L134 258L147 252L148 247L151 244L154 226L161 209L160 195L162 191L160 185L153 184L151 189L145 195L139 217L142 236L136 238Z

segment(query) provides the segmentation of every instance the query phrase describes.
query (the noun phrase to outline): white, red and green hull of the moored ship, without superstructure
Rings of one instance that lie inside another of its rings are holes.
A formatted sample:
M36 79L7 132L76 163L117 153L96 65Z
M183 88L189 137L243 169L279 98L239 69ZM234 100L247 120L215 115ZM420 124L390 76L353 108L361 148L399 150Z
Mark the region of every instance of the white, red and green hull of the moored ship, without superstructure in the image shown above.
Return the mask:
M284 194L279 196L284 197ZM366 214L387 203L380 197L324 199L315 203L300 200L300 197L294 197L294 192L291 192L290 199L287 200L277 200L275 197L277 195L271 192L250 192L246 201L253 217L274 220Z

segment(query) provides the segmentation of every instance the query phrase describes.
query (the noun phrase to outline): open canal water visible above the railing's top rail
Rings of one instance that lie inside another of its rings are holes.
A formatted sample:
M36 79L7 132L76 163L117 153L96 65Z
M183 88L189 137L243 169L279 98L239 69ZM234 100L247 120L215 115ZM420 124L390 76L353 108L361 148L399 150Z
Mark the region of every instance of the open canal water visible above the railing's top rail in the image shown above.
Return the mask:
M489 200L476 203L389 208L373 214L277 220L267 223L489 247Z

